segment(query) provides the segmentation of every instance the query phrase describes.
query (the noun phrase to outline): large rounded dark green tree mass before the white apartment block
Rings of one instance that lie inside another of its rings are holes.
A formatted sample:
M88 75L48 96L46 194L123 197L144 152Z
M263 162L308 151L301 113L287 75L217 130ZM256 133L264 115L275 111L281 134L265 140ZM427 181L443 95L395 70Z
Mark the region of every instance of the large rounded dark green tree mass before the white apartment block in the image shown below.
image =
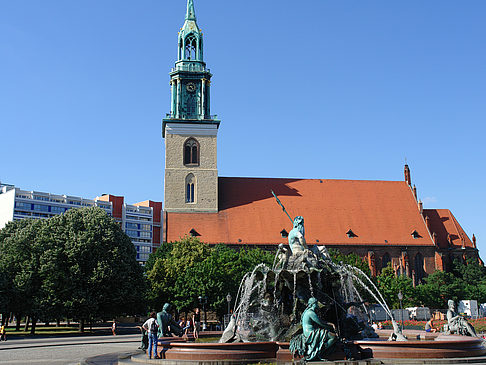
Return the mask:
M143 310L145 280L135 248L98 208L0 231L1 312L34 320L113 318Z

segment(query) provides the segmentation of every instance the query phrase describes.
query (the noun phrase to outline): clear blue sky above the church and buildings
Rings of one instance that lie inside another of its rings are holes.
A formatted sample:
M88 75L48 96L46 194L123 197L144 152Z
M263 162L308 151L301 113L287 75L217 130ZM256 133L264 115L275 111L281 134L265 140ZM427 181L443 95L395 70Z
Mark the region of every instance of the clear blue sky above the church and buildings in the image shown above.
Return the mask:
M185 6L0 1L0 181L162 200ZM195 6L221 176L402 180L406 158L425 207L486 252L486 2Z

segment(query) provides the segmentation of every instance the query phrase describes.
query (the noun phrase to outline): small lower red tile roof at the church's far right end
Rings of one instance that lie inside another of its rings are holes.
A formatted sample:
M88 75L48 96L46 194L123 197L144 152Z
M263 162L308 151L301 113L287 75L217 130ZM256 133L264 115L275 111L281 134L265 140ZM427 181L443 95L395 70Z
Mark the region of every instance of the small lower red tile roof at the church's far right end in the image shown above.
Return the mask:
M430 232L437 234L437 244L440 248L461 248L463 244L464 247L474 247L449 209L424 209L424 217L429 217ZM448 236L452 246L449 246Z

